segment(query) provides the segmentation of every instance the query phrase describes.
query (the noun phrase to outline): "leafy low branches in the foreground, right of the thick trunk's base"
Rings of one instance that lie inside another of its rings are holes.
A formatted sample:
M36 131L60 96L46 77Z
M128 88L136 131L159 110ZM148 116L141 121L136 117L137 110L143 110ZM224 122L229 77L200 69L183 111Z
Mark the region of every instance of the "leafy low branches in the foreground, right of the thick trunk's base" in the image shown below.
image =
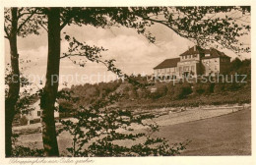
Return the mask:
M81 106L76 121L61 121L63 128L59 133L66 131L73 137L72 147L67 148L70 156L166 156L179 154L185 149L188 141L169 146L164 138L150 137L159 129L156 124L147 123L154 115L134 116L131 111L109 107L119 97L119 94L113 94L89 108ZM140 126L148 134L135 132L134 128ZM138 139L143 142L136 144ZM135 144L118 143L123 140Z

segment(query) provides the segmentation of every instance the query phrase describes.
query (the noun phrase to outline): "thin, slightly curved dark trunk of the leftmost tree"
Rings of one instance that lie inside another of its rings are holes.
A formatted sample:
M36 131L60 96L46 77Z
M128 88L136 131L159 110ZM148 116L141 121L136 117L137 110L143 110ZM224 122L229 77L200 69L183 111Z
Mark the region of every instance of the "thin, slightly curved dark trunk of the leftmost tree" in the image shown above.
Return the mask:
M12 155L12 123L15 115L15 105L20 92L20 71L19 54L17 50L17 8L12 8L12 27L9 35L11 51L11 69L12 79L9 83L8 96L5 99L5 154L6 157Z

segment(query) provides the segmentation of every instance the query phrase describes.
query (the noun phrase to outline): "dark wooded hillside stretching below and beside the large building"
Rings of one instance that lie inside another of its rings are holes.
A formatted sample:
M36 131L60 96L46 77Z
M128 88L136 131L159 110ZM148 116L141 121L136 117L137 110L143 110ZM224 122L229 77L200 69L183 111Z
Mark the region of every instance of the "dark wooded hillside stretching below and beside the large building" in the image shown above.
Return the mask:
M158 107L158 106L199 106L201 104L248 103L251 101L251 60L231 62L229 77L235 73L246 75L247 83L149 83L146 77L132 76L140 83L148 84L139 88L131 83L114 81L110 83L72 85L65 90L72 91L77 102L59 99L62 108L78 109L80 105L89 106L96 100L112 93L121 93L120 107ZM156 88L152 92L152 88Z

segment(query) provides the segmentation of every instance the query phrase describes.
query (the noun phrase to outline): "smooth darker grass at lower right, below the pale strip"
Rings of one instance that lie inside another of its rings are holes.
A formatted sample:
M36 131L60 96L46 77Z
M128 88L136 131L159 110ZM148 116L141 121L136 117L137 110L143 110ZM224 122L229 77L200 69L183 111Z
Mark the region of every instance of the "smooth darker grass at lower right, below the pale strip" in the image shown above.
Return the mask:
M164 126L155 136L167 138L171 142L192 140L182 156L250 155L251 110Z

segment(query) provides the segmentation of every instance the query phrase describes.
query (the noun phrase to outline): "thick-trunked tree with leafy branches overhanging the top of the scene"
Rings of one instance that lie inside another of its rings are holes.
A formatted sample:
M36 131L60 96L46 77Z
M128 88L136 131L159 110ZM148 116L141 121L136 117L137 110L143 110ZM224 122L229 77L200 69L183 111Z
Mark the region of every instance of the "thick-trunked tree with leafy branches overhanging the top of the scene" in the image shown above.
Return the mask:
M155 23L169 27L182 37L191 39L201 46L208 42L218 43L236 52L250 51L249 48L239 48L237 37L246 34L250 26L235 23L235 18L228 16L223 19L212 17L219 13L229 14L237 11L250 13L249 7L139 7L139 8L48 8L48 63L46 83L41 93L41 108L43 109L43 145L46 156L58 156L58 145L54 124L54 102L58 89L59 60L72 56L84 56L90 61L104 64L108 70L117 75L125 76L113 65L114 60L101 61L99 52L102 48L86 46L75 38L70 41L70 50L78 47L83 53L66 53L60 56L60 31L67 25L92 25L95 27L123 26L133 27L138 33L144 34L149 41L155 37L146 31ZM233 21L233 22L232 22ZM74 46L74 44L76 44ZM81 64L80 64L81 65ZM81 65L84 66L83 64ZM137 83L139 84L139 83Z

